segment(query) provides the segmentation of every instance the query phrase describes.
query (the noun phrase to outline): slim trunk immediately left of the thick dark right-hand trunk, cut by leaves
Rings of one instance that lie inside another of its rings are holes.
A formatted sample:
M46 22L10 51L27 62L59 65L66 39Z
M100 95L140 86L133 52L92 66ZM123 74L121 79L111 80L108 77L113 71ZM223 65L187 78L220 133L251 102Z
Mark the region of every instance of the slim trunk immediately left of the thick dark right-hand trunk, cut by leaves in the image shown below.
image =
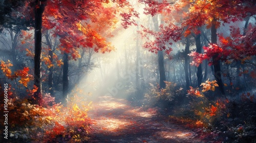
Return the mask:
M201 46L201 41L200 41L201 34L196 35L196 47L197 47L197 53L201 53L202 51L202 46ZM200 87L202 83L202 64L200 64L197 67L197 86Z

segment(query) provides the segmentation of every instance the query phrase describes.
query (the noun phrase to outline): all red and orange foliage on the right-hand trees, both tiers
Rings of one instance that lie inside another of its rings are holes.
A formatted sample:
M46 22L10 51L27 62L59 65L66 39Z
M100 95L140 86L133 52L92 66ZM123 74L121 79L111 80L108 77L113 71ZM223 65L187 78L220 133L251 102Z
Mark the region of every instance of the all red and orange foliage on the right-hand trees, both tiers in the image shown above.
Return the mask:
M232 1L231 3L230 1L177 1L175 3L140 1L140 3L146 5L145 14L162 15L159 31L144 27L140 31L142 37L146 38L143 47L154 53L161 50L169 54L172 51L173 42L180 41L181 37L200 34L204 27L210 29L215 25L215 29L218 29L225 24L243 21L255 13L252 1ZM215 55L219 55L216 61L248 62L250 57L255 55L255 44L253 44L255 36L255 25L252 22L249 22L244 29L230 26L230 36L219 33L219 42L204 46L204 54L196 52L189 54L194 58L191 64L199 66L203 60L208 60L209 65L216 64L211 61Z

